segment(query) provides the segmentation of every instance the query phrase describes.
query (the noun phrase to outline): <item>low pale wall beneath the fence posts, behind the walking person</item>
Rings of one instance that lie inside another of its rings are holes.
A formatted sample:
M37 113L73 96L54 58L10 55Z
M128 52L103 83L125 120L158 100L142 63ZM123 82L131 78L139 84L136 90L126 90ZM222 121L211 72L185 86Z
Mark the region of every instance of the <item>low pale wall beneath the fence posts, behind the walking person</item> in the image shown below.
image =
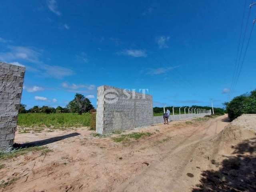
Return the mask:
M208 113L201 113L201 114L180 114L180 115L170 115L169 119L172 121L194 118L194 117L204 117L206 115L211 115L211 112ZM154 124L164 123L163 116L154 116Z

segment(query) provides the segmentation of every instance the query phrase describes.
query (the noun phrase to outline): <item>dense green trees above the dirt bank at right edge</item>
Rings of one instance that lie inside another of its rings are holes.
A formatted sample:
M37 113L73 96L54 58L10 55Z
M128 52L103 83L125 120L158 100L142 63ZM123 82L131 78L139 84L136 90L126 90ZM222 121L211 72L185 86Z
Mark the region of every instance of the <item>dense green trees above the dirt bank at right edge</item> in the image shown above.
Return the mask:
M256 114L256 90L233 98L224 103L230 119L235 119L242 114Z

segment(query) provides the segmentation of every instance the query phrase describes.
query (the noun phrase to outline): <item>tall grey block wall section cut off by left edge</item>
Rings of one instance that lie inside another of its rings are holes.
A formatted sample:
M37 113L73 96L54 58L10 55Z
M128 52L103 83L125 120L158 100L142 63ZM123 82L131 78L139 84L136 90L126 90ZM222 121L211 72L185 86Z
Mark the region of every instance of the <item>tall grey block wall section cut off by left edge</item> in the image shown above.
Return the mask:
M25 68L0 62L0 150L14 142Z

